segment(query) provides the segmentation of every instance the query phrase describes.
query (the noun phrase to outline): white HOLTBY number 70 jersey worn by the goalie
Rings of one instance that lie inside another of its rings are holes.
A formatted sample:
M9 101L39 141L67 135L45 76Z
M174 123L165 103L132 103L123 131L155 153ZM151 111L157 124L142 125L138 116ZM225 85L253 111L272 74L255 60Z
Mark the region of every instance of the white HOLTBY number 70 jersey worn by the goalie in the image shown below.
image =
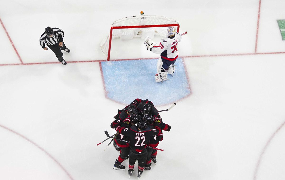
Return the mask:
M160 54L162 59L174 61L178 57L177 44L181 41L181 35L176 32L175 36L165 38L156 46L152 46L150 51Z

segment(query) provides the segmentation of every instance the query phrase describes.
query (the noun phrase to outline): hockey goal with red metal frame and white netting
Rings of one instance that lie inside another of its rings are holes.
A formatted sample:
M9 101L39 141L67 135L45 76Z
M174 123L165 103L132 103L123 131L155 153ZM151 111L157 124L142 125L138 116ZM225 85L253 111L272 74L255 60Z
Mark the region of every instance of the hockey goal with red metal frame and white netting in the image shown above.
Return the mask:
M169 26L176 26L179 32L178 22L163 16L140 15L119 19L113 22L110 35L101 42L101 50L109 61L113 39L130 40L134 37L144 39L146 36L153 38L154 35L165 38Z

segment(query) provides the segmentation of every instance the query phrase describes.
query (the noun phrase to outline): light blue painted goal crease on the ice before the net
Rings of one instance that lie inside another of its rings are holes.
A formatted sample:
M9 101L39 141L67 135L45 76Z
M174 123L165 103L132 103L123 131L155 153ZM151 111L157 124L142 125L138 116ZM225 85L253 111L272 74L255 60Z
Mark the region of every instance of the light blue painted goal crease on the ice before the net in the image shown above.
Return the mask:
M177 58L174 76L155 82L157 59L101 62L106 96L118 103L149 99L154 105L167 105L191 94L184 62Z

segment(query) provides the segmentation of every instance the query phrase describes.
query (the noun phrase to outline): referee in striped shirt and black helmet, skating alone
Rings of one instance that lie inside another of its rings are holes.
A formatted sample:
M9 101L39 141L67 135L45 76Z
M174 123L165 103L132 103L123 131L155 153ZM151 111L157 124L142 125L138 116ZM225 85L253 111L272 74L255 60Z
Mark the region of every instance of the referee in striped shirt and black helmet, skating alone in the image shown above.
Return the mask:
M58 61L63 65L66 65L66 61L62 58L63 53L61 50L70 52L70 50L65 46L63 42L64 33L59 28L50 28L49 26L45 29L45 32L40 36L40 46L44 50L48 50L44 46L44 43L54 52L55 56L58 58Z

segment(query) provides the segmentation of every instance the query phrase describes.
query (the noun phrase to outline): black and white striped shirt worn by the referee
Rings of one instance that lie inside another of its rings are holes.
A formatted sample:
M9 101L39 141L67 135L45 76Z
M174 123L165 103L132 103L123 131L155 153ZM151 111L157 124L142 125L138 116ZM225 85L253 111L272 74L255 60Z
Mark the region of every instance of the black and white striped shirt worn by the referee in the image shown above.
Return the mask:
M40 36L40 46L42 46L42 48L45 48L44 43L48 44L48 45L55 45L58 42L62 42L63 41L63 31L60 28L52 28L52 30L54 31L54 36L53 37L48 37L46 35L46 32L44 32L41 36Z

